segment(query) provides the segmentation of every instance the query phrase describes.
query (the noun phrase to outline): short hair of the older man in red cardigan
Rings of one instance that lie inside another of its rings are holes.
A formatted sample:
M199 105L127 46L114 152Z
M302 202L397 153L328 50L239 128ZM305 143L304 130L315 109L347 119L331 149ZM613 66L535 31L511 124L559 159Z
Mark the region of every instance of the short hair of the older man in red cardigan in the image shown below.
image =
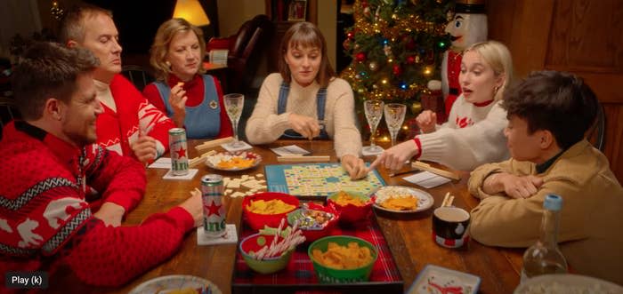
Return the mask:
M59 27L59 42L67 45L71 40L81 43L85 40L85 20L98 14L108 15L112 19L112 12L92 4L77 4L65 13Z

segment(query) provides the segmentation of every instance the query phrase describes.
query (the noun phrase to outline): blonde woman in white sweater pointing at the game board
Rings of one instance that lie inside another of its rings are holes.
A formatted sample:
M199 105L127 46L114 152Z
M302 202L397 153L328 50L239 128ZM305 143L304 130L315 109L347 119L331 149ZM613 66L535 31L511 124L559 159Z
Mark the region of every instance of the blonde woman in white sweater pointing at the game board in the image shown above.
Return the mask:
M513 75L511 53L504 44L487 41L465 49L458 81L463 93L447 123L437 124L426 110L417 116L423 134L379 155L370 165L398 171L412 157L472 171L483 163L506 160L506 111L499 106Z

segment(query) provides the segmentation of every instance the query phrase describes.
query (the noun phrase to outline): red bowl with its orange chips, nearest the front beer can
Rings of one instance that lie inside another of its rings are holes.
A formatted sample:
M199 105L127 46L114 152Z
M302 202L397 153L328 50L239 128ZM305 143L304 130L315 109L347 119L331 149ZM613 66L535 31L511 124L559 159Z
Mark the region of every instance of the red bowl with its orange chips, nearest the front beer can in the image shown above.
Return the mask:
M250 195L242 200L247 224L254 230L264 226L278 227L287 213L298 208L298 199L293 195L277 192L265 192Z

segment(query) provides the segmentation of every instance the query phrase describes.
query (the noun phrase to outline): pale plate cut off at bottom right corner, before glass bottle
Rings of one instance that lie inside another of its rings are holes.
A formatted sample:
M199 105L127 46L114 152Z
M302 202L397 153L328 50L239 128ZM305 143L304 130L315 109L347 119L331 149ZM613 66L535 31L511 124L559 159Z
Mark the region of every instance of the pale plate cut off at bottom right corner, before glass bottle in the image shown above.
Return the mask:
M529 279L514 290L514 294L548 293L623 293L623 287L579 274L544 274Z

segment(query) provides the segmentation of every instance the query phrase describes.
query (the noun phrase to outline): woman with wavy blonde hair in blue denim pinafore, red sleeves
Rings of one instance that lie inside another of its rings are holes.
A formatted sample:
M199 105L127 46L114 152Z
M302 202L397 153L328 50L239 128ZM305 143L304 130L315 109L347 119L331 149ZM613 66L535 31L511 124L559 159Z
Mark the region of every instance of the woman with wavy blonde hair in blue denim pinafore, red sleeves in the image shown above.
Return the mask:
M190 139L230 137L223 92L212 75L201 75L206 45L201 29L187 20L166 20L151 45L150 63L158 81L143 90L150 103L186 129Z

